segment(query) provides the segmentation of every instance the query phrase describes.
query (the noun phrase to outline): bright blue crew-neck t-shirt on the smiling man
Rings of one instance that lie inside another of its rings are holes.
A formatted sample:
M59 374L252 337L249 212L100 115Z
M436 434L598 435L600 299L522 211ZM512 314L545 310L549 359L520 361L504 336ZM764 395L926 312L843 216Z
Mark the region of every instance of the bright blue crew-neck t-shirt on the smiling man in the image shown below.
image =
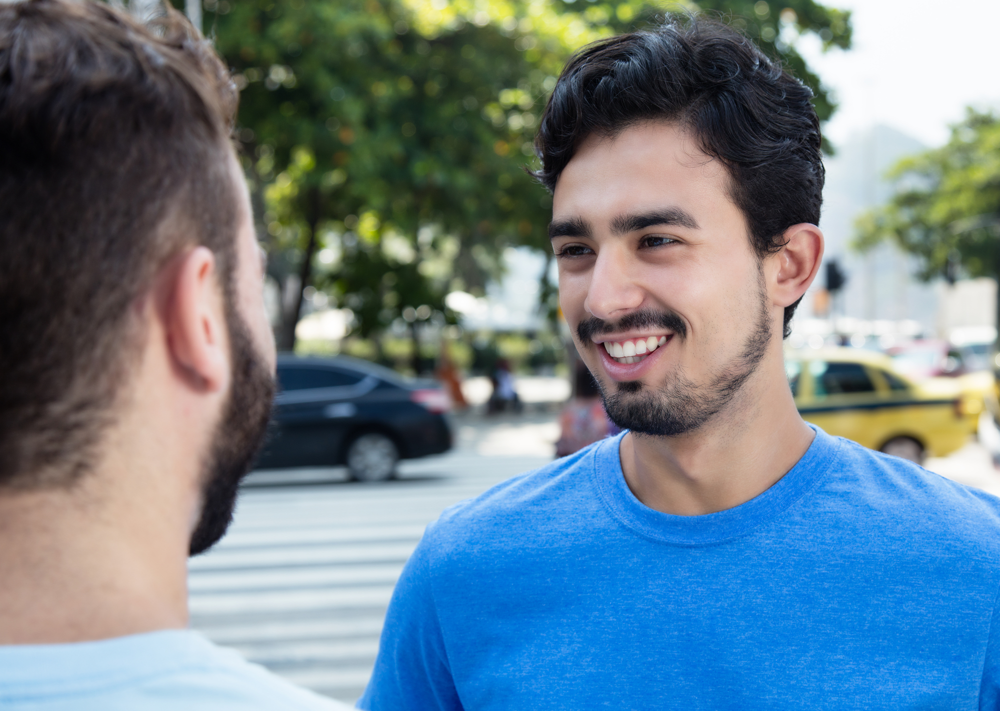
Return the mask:
M818 430L759 496L676 516L620 440L428 527L360 708L1000 708L1000 500Z

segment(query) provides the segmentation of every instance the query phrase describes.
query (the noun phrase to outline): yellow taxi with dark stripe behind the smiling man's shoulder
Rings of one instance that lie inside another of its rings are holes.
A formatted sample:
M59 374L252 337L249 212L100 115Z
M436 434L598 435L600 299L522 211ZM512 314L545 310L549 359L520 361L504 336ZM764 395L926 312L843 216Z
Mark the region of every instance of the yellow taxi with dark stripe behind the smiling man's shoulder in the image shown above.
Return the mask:
M830 434L918 463L963 446L976 414L959 383L924 388L893 369L887 355L860 349L805 349L785 354L803 419Z

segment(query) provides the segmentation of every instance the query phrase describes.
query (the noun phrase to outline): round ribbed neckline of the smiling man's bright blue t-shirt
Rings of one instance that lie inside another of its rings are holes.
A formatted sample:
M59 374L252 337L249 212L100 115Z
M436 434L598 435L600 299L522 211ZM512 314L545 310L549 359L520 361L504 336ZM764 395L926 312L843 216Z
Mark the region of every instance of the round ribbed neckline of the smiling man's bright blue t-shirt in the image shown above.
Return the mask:
M622 472L619 445L628 430L604 439L594 451L594 482L612 515L633 531L676 545L708 545L736 538L774 519L804 496L827 472L841 442L819 427L802 458L770 488L733 508L679 516L650 508L632 493Z

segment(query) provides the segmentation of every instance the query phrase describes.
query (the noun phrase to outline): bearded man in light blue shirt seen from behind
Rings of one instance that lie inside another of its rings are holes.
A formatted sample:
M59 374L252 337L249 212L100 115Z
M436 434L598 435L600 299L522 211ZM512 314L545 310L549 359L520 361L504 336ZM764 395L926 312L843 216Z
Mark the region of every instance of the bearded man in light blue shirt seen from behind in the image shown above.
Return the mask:
M276 355L236 88L166 7L0 4L0 705L346 709L188 626Z

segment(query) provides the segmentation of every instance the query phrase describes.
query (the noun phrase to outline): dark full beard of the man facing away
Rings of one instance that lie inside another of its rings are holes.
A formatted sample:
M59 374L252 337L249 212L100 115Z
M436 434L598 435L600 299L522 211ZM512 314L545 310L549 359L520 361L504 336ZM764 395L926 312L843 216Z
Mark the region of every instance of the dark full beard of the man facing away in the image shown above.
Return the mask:
M191 555L205 552L225 535L240 481L264 441L274 399L274 375L236 310L228 311L233 379L202 471L201 517L191 534Z

